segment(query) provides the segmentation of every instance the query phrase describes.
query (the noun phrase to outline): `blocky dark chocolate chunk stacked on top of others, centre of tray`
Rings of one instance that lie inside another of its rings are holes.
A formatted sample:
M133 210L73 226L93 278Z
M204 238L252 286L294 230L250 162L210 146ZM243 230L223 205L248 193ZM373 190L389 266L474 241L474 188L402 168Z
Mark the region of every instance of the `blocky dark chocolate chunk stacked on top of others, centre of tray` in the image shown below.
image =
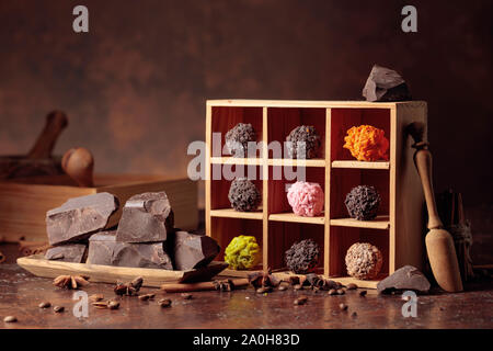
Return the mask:
M123 208L116 241L152 242L167 240L174 225L165 192L131 196Z

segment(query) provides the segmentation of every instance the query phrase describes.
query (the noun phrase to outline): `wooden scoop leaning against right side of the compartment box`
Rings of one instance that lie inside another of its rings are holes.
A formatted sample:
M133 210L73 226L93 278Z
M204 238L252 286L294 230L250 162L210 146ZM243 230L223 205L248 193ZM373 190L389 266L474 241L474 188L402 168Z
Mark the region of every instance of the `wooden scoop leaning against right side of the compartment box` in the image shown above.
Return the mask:
M462 280L460 279L454 239L444 229L436 208L432 184L432 154L428 150L428 143L423 141L424 125L421 123L412 123L408 126L408 132L415 143L413 145L413 148L416 149L414 163L420 173L426 200L426 208L428 211L429 231L426 235L425 241L433 275L438 285L446 292L461 292L463 290Z

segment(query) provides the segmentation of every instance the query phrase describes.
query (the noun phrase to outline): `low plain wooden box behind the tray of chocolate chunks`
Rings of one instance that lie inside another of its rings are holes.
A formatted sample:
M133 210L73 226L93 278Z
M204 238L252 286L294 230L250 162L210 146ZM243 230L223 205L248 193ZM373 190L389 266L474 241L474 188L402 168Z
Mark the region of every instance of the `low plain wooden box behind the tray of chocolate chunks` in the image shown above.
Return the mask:
M66 176L37 177L0 182L0 238L47 241L46 212L70 197L108 192L121 202L110 218L116 225L125 202L144 192L165 191L174 212L175 227L196 229L198 225L197 184L190 179L165 179L160 176L96 176L95 188L79 188Z

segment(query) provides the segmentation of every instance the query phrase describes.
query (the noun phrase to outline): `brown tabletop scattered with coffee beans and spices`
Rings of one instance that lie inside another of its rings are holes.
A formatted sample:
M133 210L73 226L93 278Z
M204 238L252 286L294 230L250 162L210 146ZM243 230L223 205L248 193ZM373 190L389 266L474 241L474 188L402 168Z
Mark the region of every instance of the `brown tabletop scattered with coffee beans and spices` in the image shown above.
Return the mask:
M326 292L288 290L266 296L253 288L234 292L196 292L185 301L181 294L167 294L172 299L170 308L157 304L157 298L141 302L137 297L123 297L117 310L89 307L88 318L72 314L76 301L73 291L60 290L50 279L37 278L15 263L16 247L2 245L0 251L8 261L0 264L0 328L492 328L493 283L491 279L469 284L460 294L434 292L419 296L417 317L404 318L401 309L405 303L400 295L378 295L368 290L366 297L357 291L342 296ZM93 283L84 288L89 295L101 293L114 297L113 285ZM308 303L295 306L298 295L307 295ZM64 306L66 312L56 314L51 308L41 309L38 304L48 301ZM340 303L348 305L341 312ZM357 316L352 316L353 312ZM19 321L3 322L14 315Z

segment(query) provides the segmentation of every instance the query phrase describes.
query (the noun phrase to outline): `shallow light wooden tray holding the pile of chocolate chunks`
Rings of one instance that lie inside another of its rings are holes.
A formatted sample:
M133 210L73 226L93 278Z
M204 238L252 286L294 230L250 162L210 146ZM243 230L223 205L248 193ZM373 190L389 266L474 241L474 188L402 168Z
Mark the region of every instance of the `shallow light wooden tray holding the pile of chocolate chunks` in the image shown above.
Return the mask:
M198 270L168 271L148 268L112 267L88 263L70 263L46 260L43 254L33 254L18 259L18 264L37 276L56 278L61 274L88 275L90 282L111 283L144 278L144 286L160 287L164 283L195 283L211 280L228 264L211 262Z

